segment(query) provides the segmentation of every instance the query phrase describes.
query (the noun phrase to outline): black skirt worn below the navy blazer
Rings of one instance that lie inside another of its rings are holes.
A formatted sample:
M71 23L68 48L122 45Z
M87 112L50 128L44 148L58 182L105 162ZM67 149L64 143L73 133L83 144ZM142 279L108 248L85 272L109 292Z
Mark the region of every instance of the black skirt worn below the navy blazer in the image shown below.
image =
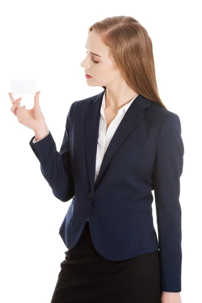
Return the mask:
M111 261L95 250L89 221L65 251L51 303L161 303L159 250Z

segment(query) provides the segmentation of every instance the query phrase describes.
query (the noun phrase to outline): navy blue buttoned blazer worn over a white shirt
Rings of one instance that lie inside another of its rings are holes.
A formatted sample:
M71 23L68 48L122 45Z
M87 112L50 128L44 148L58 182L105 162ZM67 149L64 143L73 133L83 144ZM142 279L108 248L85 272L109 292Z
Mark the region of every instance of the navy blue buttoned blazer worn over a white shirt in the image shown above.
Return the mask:
M104 92L72 103L60 152L50 131L29 142L53 194L63 202L73 198L59 234L68 250L73 248L89 218L93 245L104 258L123 261L159 249L162 291L180 292L180 119L139 94L112 137L94 183Z

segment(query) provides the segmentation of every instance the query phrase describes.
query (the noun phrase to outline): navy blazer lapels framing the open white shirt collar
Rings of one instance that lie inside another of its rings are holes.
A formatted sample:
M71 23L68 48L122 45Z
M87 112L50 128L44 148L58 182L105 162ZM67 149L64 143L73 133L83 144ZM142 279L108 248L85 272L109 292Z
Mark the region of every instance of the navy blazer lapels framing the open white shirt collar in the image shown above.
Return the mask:
M106 89L105 89L106 90ZM95 178L95 161L96 161L96 151L97 151L97 139L99 131L99 119L100 119L100 107L103 101L103 95L105 90L98 94L92 104L86 108L86 128L85 128L85 150L86 150L86 164L88 170L88 178L90 183L90 188L94 191L95 186L99 182L101 176L103 175L107 165L112 159L113 155L116 153L119 146L127 138L134 127L139 123L141 119L145 116L144 109L149 108L151 105L151 100L144 98L142 95L138 95L128 108L125 116L123 117L121 123L119 124L110 144L104 155L102 165L99 170L96 182Z

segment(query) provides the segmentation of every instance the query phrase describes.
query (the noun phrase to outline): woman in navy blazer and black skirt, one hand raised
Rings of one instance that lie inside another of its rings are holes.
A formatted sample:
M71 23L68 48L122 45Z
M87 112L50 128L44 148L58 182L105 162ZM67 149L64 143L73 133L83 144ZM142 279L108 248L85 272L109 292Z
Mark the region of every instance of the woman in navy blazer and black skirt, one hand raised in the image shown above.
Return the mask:
M93 24L85 47L87 84L104 90L71 104L60 152L39 92L30 111L10 93L53 194L72 199L51 303L180 303L184 146L180 119L158 93L151 39L117 16Z

